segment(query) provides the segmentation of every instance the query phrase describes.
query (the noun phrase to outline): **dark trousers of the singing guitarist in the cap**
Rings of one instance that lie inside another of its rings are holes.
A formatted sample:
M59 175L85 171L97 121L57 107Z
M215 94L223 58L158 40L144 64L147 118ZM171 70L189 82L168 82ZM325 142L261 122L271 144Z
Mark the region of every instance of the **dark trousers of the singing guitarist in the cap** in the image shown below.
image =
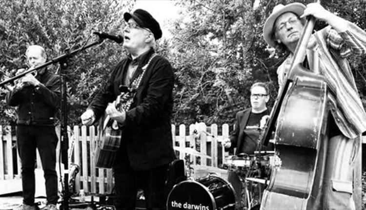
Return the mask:
M147 210L165 210L164 184L168 165L149 170L134 170L126 154L118 156L117 164L113 168L117 210L134 210L138 189L143 190Z

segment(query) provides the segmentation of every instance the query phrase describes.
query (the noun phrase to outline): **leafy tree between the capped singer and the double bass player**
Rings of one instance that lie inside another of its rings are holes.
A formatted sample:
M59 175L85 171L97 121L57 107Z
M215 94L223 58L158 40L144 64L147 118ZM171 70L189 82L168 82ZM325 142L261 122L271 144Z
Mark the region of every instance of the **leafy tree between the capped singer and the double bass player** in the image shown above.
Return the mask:
M224 123L249 105L257 31L251 1L182 1L170 60L176 68L175 122Z

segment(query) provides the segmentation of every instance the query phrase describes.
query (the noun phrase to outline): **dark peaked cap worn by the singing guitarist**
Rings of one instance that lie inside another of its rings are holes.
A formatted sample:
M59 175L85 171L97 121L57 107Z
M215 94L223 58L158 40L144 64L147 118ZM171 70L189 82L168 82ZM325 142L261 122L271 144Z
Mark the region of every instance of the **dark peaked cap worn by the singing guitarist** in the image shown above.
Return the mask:
M137 9L133 13L124 13L123 19L124 21L128 21L130 19L136 21L136 23L143 28L148 28L153 34L155 40L158 40L162 37L163 32L160 28L160 24L156 21L150 13L143 9Z

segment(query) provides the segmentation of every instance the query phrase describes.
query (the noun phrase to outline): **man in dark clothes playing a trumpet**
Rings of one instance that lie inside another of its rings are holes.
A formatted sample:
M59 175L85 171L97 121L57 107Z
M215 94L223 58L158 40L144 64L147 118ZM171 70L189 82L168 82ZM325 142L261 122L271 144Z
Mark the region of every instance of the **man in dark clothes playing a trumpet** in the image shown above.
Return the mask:
M30 68L46 62L46 52L39 45L27 48L25 56ZM20 69L19 71L23 71ZM17 72L19 73L19 72ZM56 210L58 200L56 173L55 113L60 105L61 80L47 68L20 78L12 91L6 95L6 103L18 106L17 147L21 161L23 204L19 209L35 210L35 159L36 148L41 156L44 172L47 207Z

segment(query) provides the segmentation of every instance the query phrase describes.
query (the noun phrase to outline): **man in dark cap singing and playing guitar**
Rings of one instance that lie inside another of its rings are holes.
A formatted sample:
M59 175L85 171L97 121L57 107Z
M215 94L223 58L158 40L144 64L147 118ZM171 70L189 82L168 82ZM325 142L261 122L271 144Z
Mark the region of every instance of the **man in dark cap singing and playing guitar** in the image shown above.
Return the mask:
M117 209L135 209L140 188L147 209L165 209L166 170L175 158L170 126L174 73L170 63L155 54L155 41L162 37L159 23L142 9L123 17L123 47L129 55L114 68L81 120L91 125L105 111L122 129L122 144L113 167ZM130 86L146 65L130 109L117 110L114 100L120 94L120 85Z

